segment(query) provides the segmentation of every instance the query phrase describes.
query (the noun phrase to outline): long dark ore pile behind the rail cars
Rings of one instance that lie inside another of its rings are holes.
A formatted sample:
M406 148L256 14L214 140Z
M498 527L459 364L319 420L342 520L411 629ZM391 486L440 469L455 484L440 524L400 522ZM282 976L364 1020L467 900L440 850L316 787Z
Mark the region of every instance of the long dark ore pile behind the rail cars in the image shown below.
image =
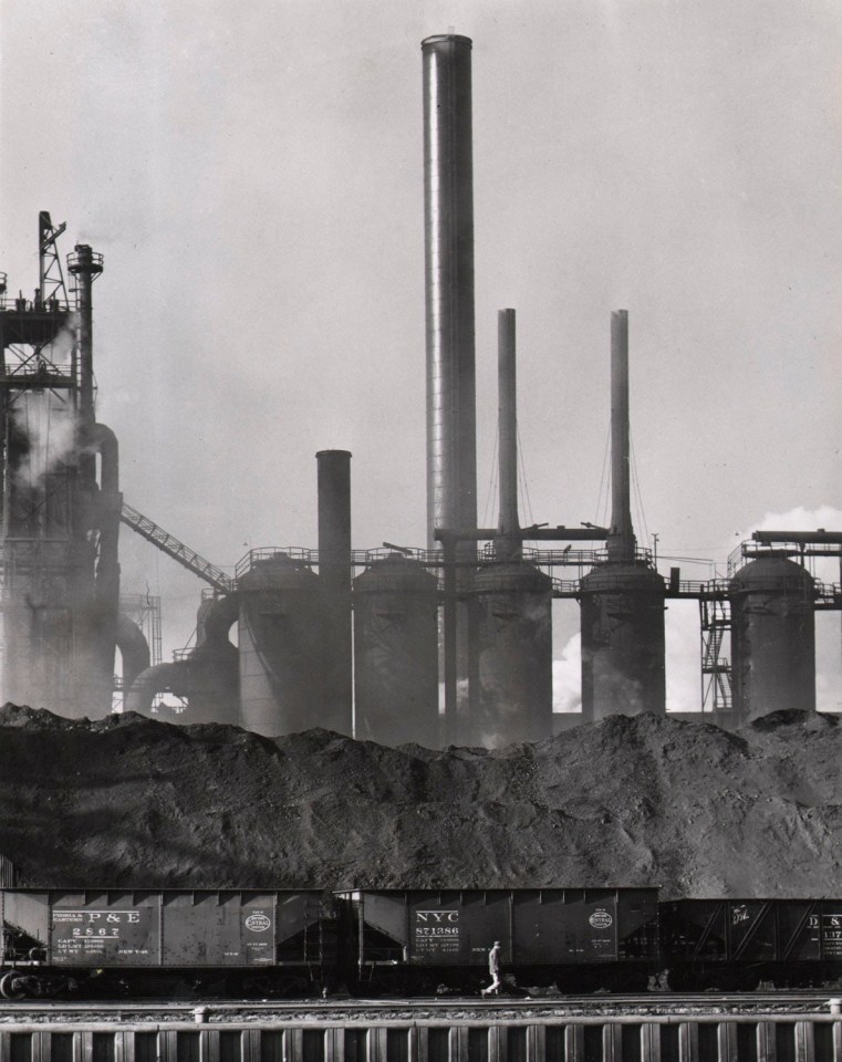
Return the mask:
M842 727L616 716L498 751L0 709L0 853L74 887L842 893Z

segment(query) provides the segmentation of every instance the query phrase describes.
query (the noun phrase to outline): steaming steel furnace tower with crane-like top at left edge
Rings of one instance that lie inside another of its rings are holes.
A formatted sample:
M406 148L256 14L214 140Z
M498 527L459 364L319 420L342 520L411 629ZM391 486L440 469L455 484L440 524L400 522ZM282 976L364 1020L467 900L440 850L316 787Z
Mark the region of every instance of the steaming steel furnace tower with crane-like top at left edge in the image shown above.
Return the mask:
M65 716L111 708L118 613L116 440L95 424L91 285L102 256L70 257L39 215L39 287L0 292L2 697ZM97 467L101 458L101 470Z

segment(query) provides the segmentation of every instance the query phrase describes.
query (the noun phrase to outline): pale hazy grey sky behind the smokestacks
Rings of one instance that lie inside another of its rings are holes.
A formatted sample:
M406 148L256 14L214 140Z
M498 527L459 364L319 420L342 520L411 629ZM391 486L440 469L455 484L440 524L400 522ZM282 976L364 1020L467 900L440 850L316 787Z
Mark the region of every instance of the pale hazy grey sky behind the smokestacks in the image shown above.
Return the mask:
M604 519L624 308L641 544L721 564L799 507L842 530L836 0L7 0L0 269L34 288L40 209L105 256L126 500L220 565L315 546L314 454L341 447L354 545L424 544L419 44L451 30L474 39L480 519L497 310L522 516L576 524ZM202 584L128 531L122 554L185 644Z

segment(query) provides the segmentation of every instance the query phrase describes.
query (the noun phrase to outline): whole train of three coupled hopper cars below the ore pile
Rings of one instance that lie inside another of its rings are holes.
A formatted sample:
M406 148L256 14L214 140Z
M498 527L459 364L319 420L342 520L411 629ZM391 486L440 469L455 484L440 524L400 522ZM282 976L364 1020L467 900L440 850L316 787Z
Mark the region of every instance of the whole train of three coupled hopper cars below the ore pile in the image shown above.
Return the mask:
M476 992L842 983L842 900L657 888L0 887L0 997Z

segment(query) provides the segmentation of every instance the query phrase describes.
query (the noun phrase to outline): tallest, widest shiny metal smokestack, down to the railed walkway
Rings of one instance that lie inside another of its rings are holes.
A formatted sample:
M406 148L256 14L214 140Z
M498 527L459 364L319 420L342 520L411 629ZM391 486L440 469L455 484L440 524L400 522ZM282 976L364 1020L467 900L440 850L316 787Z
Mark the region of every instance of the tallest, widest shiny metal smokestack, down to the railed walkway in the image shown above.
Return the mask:
M422 42L427 331L427 534L477 525L471 41ZM459 552L476 555L462 543Z

